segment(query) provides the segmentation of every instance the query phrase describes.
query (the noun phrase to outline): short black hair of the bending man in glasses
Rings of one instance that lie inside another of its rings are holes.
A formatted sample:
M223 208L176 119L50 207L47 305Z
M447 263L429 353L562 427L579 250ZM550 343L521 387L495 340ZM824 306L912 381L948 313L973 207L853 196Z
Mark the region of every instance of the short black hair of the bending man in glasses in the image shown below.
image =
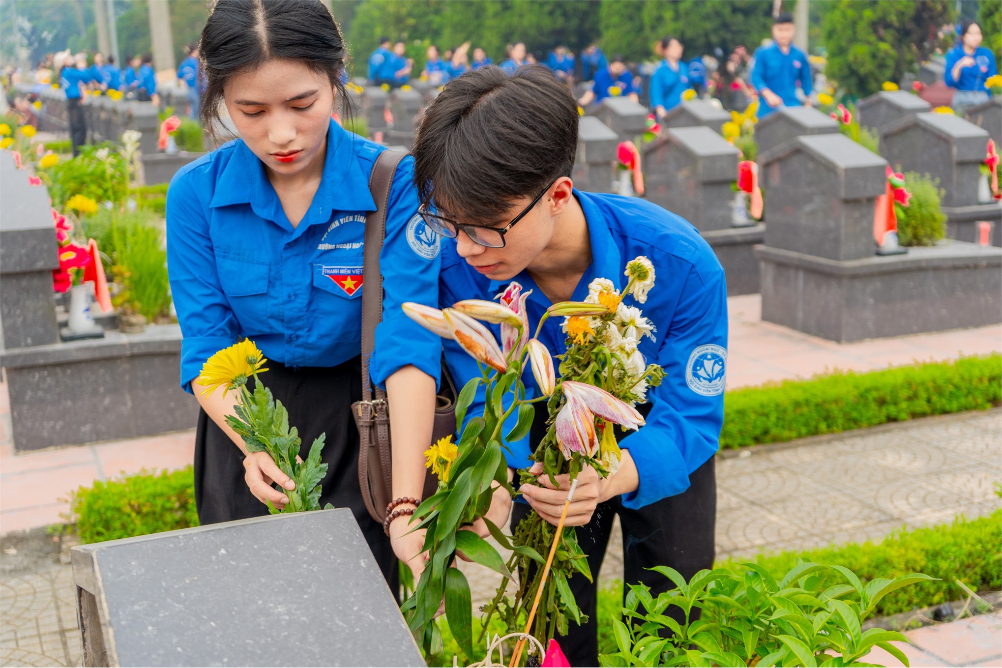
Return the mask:
M421 203L484 224L570 176L577 103L544 65L511 76L481 67L450 81L425 112L414 148Z

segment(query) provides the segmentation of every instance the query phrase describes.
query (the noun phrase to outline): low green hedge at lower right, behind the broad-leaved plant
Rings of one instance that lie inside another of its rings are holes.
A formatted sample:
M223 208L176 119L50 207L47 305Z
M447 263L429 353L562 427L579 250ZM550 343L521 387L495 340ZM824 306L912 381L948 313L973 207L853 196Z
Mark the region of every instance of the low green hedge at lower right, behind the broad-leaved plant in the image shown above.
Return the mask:
M804 552L759 555L754 561L774 576L786 573L801 559L845 566L864 580L894 579L908 573L925 573L939 578L898 590L878 604L878 615L895 615L967 598L956 580L973 591L1002 588L1000 544L1002 510L996 510L988 517L975 520L960 517L953 524L901 530L877 544L850 543ZM735 560L728 560L721 567L740 568Z

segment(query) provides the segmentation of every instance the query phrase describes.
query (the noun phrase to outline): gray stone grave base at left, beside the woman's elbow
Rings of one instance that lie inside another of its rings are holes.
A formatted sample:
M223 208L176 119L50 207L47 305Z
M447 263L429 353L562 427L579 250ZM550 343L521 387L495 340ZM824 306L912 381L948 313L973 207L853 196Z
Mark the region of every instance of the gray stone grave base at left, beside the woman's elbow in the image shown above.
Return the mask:
M9 349L0 354L17 451L131 439L191 429L198 404L178 385L181 332Z

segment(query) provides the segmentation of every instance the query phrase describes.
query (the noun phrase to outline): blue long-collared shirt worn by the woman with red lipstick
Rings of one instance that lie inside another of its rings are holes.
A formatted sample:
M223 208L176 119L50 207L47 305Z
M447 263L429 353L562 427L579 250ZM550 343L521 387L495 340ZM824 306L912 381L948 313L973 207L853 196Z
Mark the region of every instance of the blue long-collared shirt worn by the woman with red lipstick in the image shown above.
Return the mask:
M320 187L295 227L240 139L171 180L167 264L184 390L209 356L244 337L291 367L333 367L360 355L365 220L376 209L369 176L386 147L333 120L327 141ZM417 213L413 177L408 156L393 179L380 253L384 312L370 361L380 386L407 365L435 379L441 371L441 340L401 308L438 301L440 241Z

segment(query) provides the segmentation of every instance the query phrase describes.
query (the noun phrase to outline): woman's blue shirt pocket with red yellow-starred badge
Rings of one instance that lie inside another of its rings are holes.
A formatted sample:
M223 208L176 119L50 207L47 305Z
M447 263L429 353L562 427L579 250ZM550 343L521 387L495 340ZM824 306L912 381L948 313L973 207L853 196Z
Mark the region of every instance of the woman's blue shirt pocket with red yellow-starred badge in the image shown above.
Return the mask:
M357 343L362 340L362 256L339 257L313 265L311 308L318 333L331 341Z

